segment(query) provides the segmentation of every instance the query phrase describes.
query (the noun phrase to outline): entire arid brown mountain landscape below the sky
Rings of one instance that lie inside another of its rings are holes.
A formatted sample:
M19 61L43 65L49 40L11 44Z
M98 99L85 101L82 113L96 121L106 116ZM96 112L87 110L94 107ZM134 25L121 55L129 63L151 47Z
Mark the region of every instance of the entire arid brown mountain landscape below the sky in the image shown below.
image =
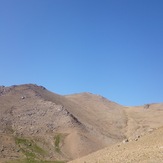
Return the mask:
M161 163L163 104L0 87L0 163Z

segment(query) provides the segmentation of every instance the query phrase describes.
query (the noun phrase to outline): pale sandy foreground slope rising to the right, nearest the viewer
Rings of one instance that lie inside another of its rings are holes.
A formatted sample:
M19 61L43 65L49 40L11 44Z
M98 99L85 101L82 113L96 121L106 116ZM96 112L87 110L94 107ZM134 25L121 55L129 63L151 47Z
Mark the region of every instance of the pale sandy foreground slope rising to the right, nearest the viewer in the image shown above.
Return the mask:
M118 143L69 163L163 163L163 128L136 141Z

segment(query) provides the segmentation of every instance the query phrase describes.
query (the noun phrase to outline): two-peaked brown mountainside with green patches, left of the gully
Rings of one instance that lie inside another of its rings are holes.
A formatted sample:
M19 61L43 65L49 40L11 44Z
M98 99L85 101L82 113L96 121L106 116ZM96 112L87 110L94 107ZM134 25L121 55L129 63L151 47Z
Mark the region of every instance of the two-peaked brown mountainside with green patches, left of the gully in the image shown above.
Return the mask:
M88 101L78 103L33 84L0 87L0 160L27 157L34 149L25 142L45 151L35 151L34 159L71 160L123 140L122 106L91 94Z

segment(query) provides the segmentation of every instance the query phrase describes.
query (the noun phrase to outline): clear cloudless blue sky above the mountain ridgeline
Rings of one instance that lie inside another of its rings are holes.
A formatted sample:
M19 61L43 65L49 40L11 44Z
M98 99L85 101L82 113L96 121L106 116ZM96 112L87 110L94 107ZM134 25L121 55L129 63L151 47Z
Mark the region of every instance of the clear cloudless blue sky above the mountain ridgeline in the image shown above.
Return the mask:
M0 0L0 85L163 102L163 0Z

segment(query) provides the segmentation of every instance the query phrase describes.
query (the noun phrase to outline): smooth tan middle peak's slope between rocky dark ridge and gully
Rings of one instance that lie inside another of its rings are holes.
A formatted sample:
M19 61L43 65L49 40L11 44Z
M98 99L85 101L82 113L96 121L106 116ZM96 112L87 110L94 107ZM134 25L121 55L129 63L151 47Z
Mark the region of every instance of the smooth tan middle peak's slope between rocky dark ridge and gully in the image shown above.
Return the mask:
M94 132L102 133L103 139L111 138L108 144L125 138L127 119L123 106L91 93L74 94L66 98L82 106L84 121L93 127Z

